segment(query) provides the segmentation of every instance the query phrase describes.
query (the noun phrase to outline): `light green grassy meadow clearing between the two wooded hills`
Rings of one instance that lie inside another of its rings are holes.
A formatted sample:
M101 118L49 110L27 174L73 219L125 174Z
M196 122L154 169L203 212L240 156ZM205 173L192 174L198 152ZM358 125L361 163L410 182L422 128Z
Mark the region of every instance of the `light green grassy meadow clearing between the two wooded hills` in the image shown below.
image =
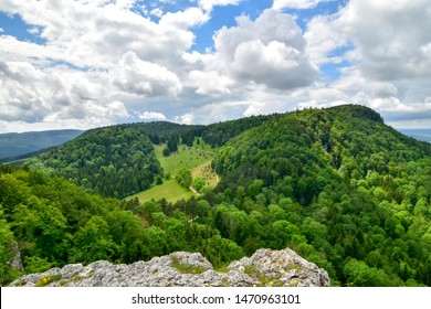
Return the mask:
M182 169L190 170L193 179L203 177L206 179L206 185L216 187L217 175L211 170L211 161L216 153L201 139L199 143L197 141L198 139L195 139L193 147L178 146L178 151L168 157L162 154L166 145L154 145L156 157L164 168L165 174L169 174L170 177L169 179L164 179L162 184L130 195L127 200L138 198L139 202L143 203L150 200L158 201L166 199L168 202L175 203L182 199L190 199L193 196L193 192L182 188L175 180L176 174Z

